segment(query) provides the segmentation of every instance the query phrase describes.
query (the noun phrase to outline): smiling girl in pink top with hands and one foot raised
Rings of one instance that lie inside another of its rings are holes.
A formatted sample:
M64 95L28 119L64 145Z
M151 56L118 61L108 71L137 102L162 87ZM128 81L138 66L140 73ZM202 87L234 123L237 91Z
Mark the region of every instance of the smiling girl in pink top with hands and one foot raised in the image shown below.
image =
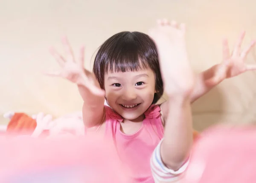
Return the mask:
M191 115L183 116L177 110L185 107L191 113L187 102L222 81L227 66L219 64L194 79L186 57L184 26L161 20L154 30L151 36L156 44L141 32L113 35L100 46L93 73L84 70L84 47L77 60L66 38L67 58L51 49L62 69L49 74L78 85L84 100L86 133L96 131L112 140L131 182L154 183L149 162L163 138L163 126L169 141L161 144L161 158L166 168L177 171L182 167L192 145L192 122ZM227 59L232 61L231 57ZM208 77L204 77L206 74ZM163 94L163 84L169 101L155 105ZM110 107L104 105L105 100ZM175 114L172 118L170 111Z

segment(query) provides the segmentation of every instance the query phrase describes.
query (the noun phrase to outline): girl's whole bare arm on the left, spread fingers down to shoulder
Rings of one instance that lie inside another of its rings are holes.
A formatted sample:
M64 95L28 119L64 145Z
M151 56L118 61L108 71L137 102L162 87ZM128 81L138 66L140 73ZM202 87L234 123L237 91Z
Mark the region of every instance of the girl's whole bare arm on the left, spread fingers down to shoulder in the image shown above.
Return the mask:
M84 70L84 47L81 47L79 59L76 60L73 50L67 41L63 39L67 58L51 49L51 54L61 66L57 73L48 73L50 76L65 78L78 85L79 93L84 100L83 120L86 128L99 125L104 119L104 95L105 91L99 87L99 83L93 73Z

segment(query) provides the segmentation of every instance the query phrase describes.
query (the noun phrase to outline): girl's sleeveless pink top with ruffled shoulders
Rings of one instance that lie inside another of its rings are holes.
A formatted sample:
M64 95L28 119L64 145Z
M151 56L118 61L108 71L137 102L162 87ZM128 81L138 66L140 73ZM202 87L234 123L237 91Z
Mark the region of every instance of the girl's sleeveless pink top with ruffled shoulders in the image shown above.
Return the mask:
M105 135L113 139L119 157L132 178L132 183L154 183L150 158L163 138L160 107L151 105L144 113L145 119L140 129L129 135L120 130L122 117L108 106L105 106L105 110Z

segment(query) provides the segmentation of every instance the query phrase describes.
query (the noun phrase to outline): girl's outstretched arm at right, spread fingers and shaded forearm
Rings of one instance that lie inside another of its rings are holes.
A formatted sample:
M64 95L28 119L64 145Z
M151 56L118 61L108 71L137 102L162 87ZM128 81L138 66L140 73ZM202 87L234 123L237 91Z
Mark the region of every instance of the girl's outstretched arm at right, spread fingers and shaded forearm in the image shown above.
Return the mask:
M223 40L223 58L220 64L216 64L211 68L198 74L196 78L195 88L191 95L191 102L194 102L201 96L209 92L213 87L224 81L226 78L232 78L245 73L249 70L256 70L255 64L246 64L245 59L248 53L252 50L256 41L251 43L241 50L241 44L244 39L245 32L241 32L236 41L233 52L230 53L227 39Z

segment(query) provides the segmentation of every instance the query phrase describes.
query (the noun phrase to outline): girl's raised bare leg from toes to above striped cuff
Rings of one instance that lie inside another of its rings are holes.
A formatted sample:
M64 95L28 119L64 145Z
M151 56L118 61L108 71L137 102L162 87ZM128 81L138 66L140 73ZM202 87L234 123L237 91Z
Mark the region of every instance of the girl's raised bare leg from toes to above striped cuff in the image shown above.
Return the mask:
M185 26L161 20L150 35L157 46L165 92L169 96L160 157L168 169L177 171L188 159L193 140L190 96L195 78L187 58Z

